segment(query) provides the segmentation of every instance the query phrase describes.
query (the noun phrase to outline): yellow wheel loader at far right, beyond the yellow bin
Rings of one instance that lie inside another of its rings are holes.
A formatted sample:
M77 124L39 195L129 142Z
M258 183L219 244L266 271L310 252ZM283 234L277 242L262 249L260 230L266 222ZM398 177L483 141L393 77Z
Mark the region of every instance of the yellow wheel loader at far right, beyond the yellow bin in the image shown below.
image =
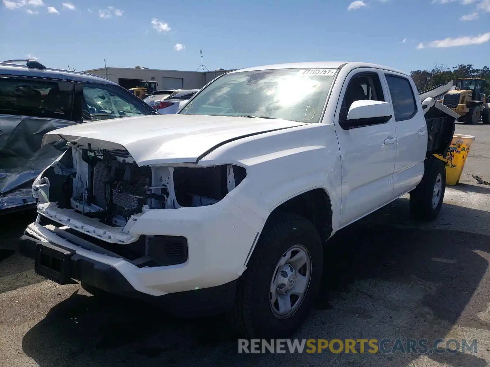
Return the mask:
M460 115L458 121L476 124L481 118L484 124L489 124L489 96L485 95L487 86L485 79L456 79L455 88L444 95L442 104Z

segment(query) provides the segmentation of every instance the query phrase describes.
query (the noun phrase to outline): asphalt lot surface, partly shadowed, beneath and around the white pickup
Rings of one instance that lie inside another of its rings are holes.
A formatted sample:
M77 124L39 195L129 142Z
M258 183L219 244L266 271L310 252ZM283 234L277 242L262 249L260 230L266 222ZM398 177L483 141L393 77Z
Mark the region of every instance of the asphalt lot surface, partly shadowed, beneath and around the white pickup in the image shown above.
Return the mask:
M324 254L315 310L295 337L477 339L476 353L237 354L222 316L175 319L36 275L33 260L15 252L35 218L25 212L0 217L0 366L487 366L490 185L471 174L490 182L490 125L456 132L476 140L438 219L412 220L403 197L339 231Z

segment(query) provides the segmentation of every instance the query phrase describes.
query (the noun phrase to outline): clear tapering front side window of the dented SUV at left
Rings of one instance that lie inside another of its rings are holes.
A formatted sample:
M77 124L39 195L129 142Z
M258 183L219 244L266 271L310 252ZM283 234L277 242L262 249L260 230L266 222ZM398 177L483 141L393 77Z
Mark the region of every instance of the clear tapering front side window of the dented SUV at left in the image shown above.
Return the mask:
M110 86L84 84L83 97L85 119L97 121L108 118L149 115L147 111L133 103L128 96Z

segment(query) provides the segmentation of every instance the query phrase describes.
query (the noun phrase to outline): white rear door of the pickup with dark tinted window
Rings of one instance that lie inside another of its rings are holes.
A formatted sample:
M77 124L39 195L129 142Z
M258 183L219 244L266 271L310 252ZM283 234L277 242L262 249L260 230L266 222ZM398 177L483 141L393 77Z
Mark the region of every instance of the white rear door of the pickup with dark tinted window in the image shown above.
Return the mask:
M415 188L424 173L427 125L413 81L401 74L385 73L385 77L398 138L393 172L393 198L396 198Z

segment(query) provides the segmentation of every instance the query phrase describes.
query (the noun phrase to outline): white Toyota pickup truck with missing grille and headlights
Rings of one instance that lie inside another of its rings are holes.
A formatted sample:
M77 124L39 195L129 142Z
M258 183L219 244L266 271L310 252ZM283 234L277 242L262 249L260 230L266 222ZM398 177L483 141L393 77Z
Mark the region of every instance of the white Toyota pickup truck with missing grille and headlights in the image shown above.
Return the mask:
M60 284L290 335L336 231L406 193L438 215L454 116L435 104L395 69L297 63L228 72L177 115L52 131L69 148L33 184L20 252Z

